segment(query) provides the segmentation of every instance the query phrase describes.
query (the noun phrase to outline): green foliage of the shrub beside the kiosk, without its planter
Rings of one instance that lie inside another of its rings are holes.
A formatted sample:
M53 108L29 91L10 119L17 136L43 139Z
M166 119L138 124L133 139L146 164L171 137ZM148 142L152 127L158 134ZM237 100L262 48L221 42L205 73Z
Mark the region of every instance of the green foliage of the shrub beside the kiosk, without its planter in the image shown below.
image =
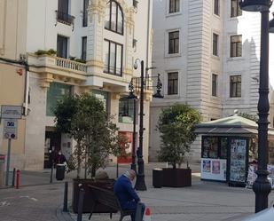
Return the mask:
M157 125L160 131L159 160L170 162L174 169L184 162L196 138L195 125L200 122L200 113L186 104L176 104L162 109Z

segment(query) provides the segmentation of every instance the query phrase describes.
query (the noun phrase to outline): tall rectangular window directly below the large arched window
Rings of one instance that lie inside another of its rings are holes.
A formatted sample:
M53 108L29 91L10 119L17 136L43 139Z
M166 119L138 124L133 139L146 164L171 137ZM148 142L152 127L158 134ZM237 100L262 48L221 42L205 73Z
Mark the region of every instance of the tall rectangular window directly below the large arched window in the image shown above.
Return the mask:
M104 72L121 76L122 45L105 40L105 68Z

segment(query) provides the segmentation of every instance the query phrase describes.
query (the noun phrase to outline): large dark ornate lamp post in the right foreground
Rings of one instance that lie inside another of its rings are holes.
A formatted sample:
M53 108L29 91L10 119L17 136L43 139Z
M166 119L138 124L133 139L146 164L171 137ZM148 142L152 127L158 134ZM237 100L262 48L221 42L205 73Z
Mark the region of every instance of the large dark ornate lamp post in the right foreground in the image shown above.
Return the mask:
M269 102L269 9L273 0L239 0L239 6L243 11L261 12L261 59L260 59L260 86L258 101L258 170L253 190L255 193L255 212L268 208L268 195L271 185L267 178L268 163L268 115Z

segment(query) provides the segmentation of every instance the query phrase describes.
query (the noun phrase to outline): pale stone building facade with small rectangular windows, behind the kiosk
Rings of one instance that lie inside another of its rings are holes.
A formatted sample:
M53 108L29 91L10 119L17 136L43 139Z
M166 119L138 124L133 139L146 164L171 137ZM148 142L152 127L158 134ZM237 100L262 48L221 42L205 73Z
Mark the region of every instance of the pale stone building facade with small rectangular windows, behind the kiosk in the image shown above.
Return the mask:
M151 103L152 161L160 148L155 127L163 107L187 103L199 110L203 121L229 116L235 109L256 115L261 17L242 12L238 2L153 1L153 65L162 74L165 98ZM270 104L273 61L270 50ZM269 119L272 124L272 108ZM200 160L200 138L192 144L189 160Z

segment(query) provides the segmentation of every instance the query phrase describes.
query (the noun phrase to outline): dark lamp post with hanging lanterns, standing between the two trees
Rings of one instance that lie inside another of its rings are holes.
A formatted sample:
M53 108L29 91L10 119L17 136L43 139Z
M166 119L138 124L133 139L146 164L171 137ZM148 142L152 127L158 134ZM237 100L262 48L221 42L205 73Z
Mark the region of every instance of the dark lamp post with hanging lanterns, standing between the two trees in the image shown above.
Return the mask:
M131 94L131 98L134 98L134 83L133 80L140 80L140 123L139 123L139 146L137 149L137 165L138 165L138 172L137 172L137 180L135 184L135 188L137 190L146 190L145 185L145 167L144 167L144 159L143 159L143 133L144 133L144 90L145 90L145 79L148 79L149 76L144 76L144 60L136 59L134 63L134 68L137 69L137 61L141 63L141 77L140 78L133 78L131 83L129 83L129 97ZM148 70L146 68L145 70ZM131 85L130 85L131 84ZM146 85L148 87L148 85ZM158 75L157 80L157 93L153 94L153 98L163 98L160 94L160 89L162 84L160 83L160 75Z

